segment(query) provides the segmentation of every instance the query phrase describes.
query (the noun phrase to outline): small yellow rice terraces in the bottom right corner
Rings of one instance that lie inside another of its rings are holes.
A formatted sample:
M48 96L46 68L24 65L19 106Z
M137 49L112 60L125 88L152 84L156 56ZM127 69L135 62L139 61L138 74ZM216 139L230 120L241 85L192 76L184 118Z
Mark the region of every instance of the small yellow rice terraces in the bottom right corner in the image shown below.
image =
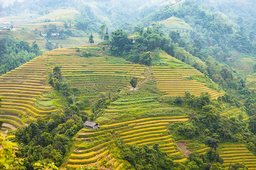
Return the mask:
M256 157L247 150L243 144L222 144L220 145L220 156L224 160L222 165L226 169L229 168L230 163L243 163L248 169L256 169Z

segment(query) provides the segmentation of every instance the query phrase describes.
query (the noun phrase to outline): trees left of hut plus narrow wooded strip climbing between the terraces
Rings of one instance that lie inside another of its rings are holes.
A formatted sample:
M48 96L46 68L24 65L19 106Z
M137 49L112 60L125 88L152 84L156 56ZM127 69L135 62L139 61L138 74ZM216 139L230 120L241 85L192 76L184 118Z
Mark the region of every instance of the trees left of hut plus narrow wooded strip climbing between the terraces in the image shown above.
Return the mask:
M73 135L84 127L88 117L86 112L81 111L88 107L88 101L76 97L79 91L63 78L59 66L53 67L49 83L59 92L64 111L40 117L15 131L14 139L20 149L19 158L23 160L26 169L57 169L63 164L65 156L70 152Z

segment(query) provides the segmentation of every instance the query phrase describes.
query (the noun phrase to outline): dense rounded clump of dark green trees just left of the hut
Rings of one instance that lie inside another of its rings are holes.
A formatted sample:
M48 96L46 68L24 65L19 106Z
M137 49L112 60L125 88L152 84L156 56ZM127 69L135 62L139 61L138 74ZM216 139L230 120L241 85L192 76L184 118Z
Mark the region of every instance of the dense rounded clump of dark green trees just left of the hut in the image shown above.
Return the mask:
M22 150L24 166L32 169L34 163L52 163L57 166L63 163L69 152L73 135L83 128L83 121L77 115L77 107L67 107L64 113L52 113L48 118L38 118L28 126L15 131Z

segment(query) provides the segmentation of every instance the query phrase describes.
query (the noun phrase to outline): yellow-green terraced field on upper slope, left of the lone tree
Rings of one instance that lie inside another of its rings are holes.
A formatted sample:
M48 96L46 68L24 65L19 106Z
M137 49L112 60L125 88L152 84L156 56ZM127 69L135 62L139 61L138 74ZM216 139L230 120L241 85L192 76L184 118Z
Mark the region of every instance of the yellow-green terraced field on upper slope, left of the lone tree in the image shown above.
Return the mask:
M90 47L89 47L90 48ZM91 47L96 49L98 47ZM82 48L81 48L82 49ZM117 91L127 87L131 76L144 79L145 66L136 64L116 64L104 57L80 57L76 49L55 49L47 52L49 63L61 66L63 75L73 87L85 94Z

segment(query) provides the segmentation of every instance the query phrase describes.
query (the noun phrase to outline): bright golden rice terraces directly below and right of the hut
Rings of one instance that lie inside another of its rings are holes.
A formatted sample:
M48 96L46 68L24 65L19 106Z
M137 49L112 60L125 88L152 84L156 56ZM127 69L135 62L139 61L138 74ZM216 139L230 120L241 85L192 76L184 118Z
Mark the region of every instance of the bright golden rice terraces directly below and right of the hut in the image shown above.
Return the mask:
M97 155L110 155L115 146L112 138L122 138L125 144L138 146L159 143L159 148L172 155L175 162L184 161L184 156L176 149L172 136L167 133L171 122L187 121L187 116L150 117L138 120L102 125L100 129L81 129L76 136L75 150L67 160L67 168L79 168L81 165L98 163ZM120 160L113 158L115 167L121 167ZM119 169L118 168L118 169Z

